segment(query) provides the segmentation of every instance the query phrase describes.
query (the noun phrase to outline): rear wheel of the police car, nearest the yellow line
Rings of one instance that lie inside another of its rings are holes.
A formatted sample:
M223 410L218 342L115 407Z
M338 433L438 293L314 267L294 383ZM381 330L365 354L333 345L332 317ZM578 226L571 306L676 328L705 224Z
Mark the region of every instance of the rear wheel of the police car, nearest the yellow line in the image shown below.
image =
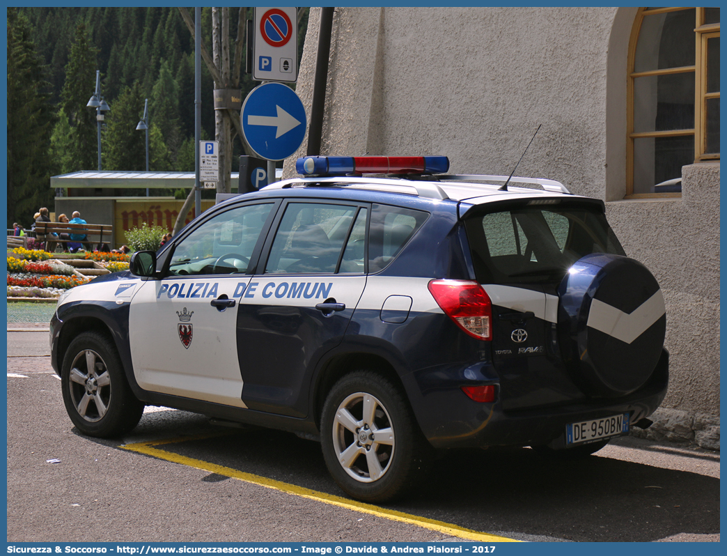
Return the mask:
M430 451L399 389L370 370L348 374L329 392L321 445L340 488L354 499L377 503L416 484Z

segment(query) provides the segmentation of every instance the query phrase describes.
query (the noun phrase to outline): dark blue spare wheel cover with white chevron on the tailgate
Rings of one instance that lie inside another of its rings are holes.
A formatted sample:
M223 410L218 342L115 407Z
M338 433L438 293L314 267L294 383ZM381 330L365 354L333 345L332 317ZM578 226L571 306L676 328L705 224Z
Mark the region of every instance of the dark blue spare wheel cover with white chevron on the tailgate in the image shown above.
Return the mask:
M664 346L664 296L646 266L596 253L575 263L558 287L558 335L574 381L593 396L634 392Z

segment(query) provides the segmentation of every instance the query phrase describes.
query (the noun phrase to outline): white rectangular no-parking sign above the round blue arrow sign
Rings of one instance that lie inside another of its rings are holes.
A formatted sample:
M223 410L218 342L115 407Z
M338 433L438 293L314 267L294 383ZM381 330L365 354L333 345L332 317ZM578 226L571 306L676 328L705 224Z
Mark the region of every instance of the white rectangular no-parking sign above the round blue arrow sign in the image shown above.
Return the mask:
M298 79L297 8L255 8L252 78L292 83Z

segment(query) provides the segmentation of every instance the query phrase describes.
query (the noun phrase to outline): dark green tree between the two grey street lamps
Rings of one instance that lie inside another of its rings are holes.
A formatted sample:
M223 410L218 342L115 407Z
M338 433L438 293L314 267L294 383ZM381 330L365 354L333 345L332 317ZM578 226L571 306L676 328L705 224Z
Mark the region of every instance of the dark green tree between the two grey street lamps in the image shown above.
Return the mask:
M126 87L114 101L102 141L106 170L146 170L145 133L136 129L143 111L144 98L138 82Z

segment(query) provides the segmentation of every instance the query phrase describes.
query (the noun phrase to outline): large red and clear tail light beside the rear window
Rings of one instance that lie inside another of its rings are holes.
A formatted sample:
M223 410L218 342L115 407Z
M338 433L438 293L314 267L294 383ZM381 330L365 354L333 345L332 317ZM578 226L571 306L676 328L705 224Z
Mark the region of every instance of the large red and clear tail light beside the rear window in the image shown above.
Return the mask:
M478 282L432 280L429 291L457 326L478 340L492 339L492 302Z

